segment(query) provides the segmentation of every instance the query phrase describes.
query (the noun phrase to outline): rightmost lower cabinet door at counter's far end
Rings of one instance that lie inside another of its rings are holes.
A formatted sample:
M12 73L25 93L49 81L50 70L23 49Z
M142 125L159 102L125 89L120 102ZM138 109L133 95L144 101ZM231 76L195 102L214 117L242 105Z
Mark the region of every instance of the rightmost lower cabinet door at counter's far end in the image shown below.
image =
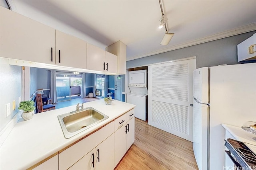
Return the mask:
M127 123L127 133L126 133L126 151L132 146L134 143L134 135L135 135L135 118L132 117Z

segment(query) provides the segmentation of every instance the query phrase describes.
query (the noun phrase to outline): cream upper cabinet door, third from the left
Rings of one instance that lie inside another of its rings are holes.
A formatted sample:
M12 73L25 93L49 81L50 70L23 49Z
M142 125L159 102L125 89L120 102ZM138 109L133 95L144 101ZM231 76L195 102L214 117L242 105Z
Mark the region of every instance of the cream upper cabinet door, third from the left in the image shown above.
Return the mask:
M105 71L106 64L104 63L105 51L99 47L87 43L87 69Z

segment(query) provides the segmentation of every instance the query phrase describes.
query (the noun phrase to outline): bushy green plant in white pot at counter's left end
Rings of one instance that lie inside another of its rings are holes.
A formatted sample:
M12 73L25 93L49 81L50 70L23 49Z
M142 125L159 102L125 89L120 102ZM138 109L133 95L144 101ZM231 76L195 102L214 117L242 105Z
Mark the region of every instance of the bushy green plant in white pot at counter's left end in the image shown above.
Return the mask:
M34 106L34 102L31 100L28 101L22 101L20 102L20 106L18 107L18 109L23 110L23 113L21 115L21 117L24 120L28 120L31 119L35 113L35 109L36 107Z

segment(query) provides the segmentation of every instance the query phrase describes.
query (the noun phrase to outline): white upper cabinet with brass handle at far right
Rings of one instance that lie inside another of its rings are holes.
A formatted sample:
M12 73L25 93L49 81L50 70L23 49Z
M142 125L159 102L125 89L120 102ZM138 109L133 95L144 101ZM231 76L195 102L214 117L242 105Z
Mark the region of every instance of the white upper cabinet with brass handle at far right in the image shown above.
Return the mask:
M256 33L237 45L238 62L256 60Z

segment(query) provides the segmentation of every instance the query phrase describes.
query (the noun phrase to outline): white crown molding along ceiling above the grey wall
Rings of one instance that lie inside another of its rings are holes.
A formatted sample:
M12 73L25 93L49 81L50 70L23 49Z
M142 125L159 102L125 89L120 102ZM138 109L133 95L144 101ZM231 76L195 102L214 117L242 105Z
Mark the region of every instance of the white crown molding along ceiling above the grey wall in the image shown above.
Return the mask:
M184 47L190 47L192 45L202 44L202 43L206 43L206 42L209 42L209 41L214 41L214 40L217 40L217 39L231 37L231 36L234 36L234 35L247 33L247 32L255 31L255 30L256 30L256 23L251 23L249 25L245 25L245 26L238 27L238 28L235 28L235 29L230 29L228 31L224 31L224 32L221 32L221 33L210 35L208 37L200 38L200 39L197 39L197 40L194 40L194 41L189 41L189 42L186 42L186 43L173 45L171 47L167 47L167 48L160 49L160 50L157 50L157 51L152 51L150 53L145 53L145 54L142 54L142 55L136 55L136 56L134 56L130 59L126 59L126 61L140 59L142 57L148 57L148 56L151 56L151 55L156 55L156 54L164 53L164 52L167 52L167 51L181 49L181 48L184 48Z

